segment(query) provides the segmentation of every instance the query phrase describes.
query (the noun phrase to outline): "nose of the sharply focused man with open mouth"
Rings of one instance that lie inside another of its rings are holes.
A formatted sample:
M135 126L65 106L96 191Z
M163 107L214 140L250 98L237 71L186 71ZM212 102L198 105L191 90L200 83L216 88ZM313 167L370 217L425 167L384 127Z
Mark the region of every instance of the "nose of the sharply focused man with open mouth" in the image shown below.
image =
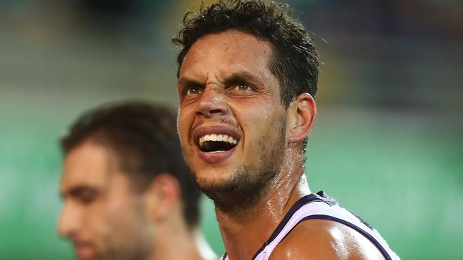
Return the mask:
M196 107L196 114L201 117L214 117L227 114L229 108L222 90L206 87Z

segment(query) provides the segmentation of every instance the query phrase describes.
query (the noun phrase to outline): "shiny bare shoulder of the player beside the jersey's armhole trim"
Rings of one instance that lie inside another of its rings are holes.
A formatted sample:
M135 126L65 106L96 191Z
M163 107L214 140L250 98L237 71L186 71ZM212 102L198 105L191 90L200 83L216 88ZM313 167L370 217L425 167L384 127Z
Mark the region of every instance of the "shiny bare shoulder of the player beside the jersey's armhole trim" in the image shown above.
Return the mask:
M368 239L354 229L331 220L298 224L274 249L276 259L384 259Z

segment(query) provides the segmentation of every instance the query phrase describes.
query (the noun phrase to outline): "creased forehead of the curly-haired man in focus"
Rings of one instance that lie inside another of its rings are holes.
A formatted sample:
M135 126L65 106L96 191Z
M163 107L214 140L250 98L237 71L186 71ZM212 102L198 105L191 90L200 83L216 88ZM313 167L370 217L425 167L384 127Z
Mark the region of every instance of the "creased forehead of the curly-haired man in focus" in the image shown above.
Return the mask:
M272 56L271 43L250 33L229 30L207 34L189 49L180 74L204 74L210 70L269 73Z

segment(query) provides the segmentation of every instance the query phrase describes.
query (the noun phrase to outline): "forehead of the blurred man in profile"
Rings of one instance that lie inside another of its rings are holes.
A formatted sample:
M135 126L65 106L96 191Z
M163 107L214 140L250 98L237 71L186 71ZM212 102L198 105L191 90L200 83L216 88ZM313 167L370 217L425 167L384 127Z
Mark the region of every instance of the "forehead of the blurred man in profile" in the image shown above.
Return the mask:
M115 160L104 146L85 141L65 157L61 191L66 192L76 186L103 188L116 172Z

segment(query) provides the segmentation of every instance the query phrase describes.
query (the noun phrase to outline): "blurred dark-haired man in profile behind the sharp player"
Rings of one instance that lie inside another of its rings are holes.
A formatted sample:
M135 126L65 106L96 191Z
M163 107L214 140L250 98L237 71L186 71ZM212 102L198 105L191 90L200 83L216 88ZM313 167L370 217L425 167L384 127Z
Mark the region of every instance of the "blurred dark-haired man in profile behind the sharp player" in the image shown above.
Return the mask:
M167 109L132 102L83 114L61 140L58 232L78 259L211 259L199 190Z

